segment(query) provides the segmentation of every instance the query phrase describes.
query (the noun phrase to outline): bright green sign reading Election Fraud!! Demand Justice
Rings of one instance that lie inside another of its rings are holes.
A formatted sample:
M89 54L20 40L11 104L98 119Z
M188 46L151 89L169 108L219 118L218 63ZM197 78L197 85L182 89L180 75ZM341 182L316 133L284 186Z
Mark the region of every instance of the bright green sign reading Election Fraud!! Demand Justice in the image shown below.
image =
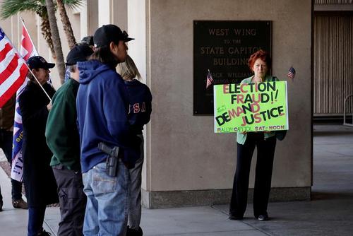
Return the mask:
M287 130L287 81L213 86L215 133Z

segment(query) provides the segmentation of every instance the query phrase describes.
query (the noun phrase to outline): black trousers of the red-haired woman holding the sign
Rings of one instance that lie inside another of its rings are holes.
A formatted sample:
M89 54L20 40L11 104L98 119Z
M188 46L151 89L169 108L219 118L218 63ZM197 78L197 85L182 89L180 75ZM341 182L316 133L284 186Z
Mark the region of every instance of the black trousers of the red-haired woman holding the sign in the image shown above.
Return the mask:
M248 201L249 174L253 151L257 148L255 187L253 191L253 215L267 214L275 155L276 138L264 138L262 132L251 132L244 145L237 143L237 170L234 175L229 214L244 216Z

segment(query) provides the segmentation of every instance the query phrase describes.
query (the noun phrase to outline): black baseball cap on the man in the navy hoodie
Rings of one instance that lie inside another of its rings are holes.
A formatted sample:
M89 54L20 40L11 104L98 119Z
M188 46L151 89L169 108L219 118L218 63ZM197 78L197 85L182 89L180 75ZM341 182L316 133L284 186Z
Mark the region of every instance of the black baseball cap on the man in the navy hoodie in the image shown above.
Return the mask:
M125 30L121 31L116 25L103 25L95 30L95 35L93 35L93 42L97 48L107 46L110 42L128 42L130 40L134 39L128 37L128 33Z

